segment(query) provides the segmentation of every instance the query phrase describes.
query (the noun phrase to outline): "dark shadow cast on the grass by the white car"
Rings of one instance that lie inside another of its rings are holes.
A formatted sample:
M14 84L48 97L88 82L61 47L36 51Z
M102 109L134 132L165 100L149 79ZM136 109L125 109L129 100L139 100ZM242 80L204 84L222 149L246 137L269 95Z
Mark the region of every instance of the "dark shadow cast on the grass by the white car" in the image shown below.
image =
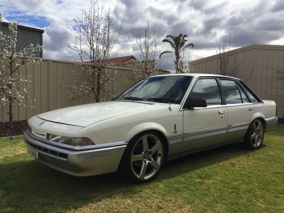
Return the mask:
M262 146L264 148L265 145ZM0 208L3 212L65 212L112 197L131 197L157 182L180 176L253 151L238 144L192 154L167 162L155 181L133 185L119 173L74 177L53 170L28 154L18 154L17 162L0 164ZM174 171L174 172L172 172Z

